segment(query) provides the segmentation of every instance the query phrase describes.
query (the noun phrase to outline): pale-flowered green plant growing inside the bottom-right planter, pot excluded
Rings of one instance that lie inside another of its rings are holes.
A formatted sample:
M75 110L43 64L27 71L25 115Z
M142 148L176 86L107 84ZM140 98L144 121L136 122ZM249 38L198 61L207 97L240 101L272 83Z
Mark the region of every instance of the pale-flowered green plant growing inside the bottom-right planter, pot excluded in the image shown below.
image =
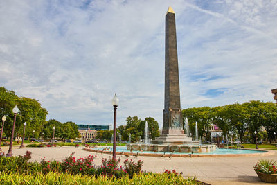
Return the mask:
M261 159L254 166L254 170L261 173L277 174L276 161Z

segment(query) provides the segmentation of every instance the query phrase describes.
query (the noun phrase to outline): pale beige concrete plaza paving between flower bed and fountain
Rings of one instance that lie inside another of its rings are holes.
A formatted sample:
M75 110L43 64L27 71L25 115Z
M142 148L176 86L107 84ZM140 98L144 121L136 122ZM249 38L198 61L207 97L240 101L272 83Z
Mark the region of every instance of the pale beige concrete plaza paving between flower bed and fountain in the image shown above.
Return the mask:
M8 147L2 147L5 154L8 152ZM32 152L32 161L40 161L42 157L46 160L62 160L68 157L72 152L74 156L87 157L88 155L97 155L95 164L101 164L101 159L109 158L111 155L87 152L82 150L82 147L57 147L57 148L22 148L15 146L12 150L13 155L24 155L26 151ZM277 150L274 155L265 157L128 157L138 161L143 160L143 170L161 173L163 170L177 170L178 173L183 173L184 177L197 177L202 182L208 184L268 184L262 183L253 166L258 159L274 159L277 160ZM127 159L125 156L117 155L121 158L120 164Z

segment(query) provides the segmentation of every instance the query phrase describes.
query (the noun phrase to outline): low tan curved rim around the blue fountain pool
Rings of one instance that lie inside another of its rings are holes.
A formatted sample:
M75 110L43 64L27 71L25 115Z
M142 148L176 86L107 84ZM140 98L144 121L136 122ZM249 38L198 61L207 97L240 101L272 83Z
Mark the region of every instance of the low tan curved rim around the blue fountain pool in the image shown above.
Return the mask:
M127 151L127 150L123 150L122 148L125 146L116 146L116 155L134 155L136 156L137 153L139 151ZM111 150L101 150L103 148L112 148L112 147L105 147L105 146L98 146L95 148L83 148L83 150L87 150L89 152L100 152L100 153L105 153L105 154L112 154ZM127 148L125 148L127 149ZM149 157L249 157L249 156L268 156L268 155L274 155L274 151L271 150L262 150L262 149L244 149L244 148L240 148L240 149L234 149L234 148L220 148L220 150L238 150L240 152L247 150L248 153L226 153L226 154L217 154L214 152L210 152L210 153L171 153L170 152L166 152L166 154L164 154L164 152L150 152L150 151L143 151L143 152L139 152L139 156L149 156ZM253 152L249 152L249 151L253 151Z

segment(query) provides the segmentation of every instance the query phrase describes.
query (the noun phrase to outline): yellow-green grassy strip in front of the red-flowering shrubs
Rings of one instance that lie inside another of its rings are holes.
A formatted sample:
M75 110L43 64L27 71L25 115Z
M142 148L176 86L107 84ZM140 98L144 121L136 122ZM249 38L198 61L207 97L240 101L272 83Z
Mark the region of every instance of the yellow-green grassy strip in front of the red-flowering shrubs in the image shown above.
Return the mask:
M0 173L1 184L200 184L195 178L184 179L179 175L166 173L140 173L132 179L128 176L121 178L109 178L107 176L94 177L89 175L71 175L68 173Z

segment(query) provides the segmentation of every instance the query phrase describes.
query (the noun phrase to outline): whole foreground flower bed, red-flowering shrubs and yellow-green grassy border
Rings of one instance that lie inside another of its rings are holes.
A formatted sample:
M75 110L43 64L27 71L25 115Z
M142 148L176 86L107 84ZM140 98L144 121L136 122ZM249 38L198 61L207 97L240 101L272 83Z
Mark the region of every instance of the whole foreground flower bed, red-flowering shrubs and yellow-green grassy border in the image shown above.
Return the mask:
M76 159L71 154L62 161L29 162L31 153L24 156L0 157L0 182L3 184L198 184L196 179L184 179L175 170L164 173L142 172L143 161L125 160L124 166L118 166L119 160L102 159L96 166L96 156L89 155ZM69 181L69 179L71 179ZM82 183L80 183L82 182ZM109 183L105 183L109 182ZM159 183L160 182L160 183ZM162 183L163 182L163 183Z

